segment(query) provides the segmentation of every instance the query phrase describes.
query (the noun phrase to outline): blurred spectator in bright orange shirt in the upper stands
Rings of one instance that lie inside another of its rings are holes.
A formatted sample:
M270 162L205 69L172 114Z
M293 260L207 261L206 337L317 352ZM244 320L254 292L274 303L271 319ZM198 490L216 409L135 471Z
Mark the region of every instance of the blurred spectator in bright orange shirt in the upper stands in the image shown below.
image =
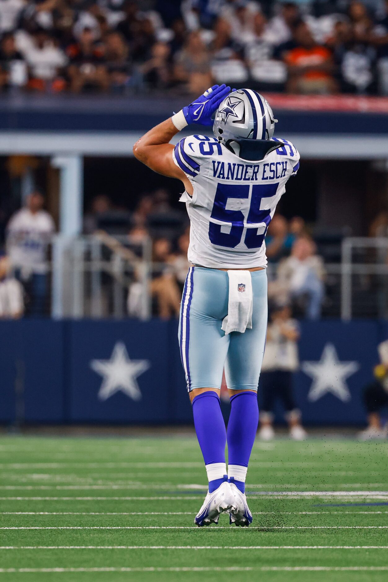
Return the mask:
M289 72L289 93L334 93L333 59L328 48L315 42L308 25L301 21L294 27L297 46L286 52L284 62Z

